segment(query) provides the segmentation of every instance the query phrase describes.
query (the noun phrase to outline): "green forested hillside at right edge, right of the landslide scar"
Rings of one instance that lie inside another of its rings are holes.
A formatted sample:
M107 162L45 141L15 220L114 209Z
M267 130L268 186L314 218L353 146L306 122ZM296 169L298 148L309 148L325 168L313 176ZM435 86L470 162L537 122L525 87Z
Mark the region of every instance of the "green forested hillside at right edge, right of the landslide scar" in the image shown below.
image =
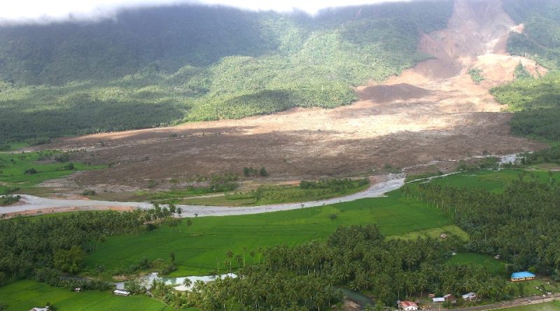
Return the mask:
M534 59L550 71L545 77L527 76L516 70L514 82L492 89L500 103L516 111L512 131L526 136L560 139L560 3L554 0L507 0L504 8L513 20L525 25L513 33L508 50Z

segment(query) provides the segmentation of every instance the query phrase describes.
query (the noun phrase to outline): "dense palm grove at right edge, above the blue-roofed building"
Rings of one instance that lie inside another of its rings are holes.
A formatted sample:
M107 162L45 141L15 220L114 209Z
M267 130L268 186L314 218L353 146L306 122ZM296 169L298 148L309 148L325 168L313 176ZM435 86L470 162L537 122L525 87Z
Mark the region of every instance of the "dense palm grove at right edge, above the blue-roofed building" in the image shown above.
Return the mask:
M454 215L456 224L470 233L468 249L500 255L511 263L510 272L552 275L560 268L560 187L552 178L542 183L521 174L498 194L434 184L403 191Z

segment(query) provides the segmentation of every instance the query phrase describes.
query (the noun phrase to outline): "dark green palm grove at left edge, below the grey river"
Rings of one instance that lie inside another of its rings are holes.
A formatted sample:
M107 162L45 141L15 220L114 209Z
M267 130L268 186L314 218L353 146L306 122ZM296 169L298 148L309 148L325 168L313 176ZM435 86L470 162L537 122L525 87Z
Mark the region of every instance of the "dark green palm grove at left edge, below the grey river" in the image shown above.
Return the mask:
M44 281L45 268L76 273L85 250L91 251L105 236L144 230L145 215L141 211L85 212L0 220L0 284L18 277Z

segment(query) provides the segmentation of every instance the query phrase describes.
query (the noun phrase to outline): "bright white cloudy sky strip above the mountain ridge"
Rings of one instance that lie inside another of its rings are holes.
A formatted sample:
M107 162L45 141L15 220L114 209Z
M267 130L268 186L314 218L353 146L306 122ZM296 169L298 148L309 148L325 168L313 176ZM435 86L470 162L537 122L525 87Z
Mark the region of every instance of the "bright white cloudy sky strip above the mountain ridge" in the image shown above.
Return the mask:
M294 8L314 14L321 8L356 6L402 0L2 0L0 23L20 24L112 18L118 10L180 3L221 4L248 10L289 12Z

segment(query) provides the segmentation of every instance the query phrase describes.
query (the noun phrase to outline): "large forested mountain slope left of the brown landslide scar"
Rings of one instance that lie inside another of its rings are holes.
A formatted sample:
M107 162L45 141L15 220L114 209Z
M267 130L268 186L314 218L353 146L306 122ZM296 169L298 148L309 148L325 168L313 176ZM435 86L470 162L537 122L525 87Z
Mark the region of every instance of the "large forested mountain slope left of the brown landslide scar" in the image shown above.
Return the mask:
M0 141L241 118L356 100L427 59L452 1L304 14L176 6L0 27Z

